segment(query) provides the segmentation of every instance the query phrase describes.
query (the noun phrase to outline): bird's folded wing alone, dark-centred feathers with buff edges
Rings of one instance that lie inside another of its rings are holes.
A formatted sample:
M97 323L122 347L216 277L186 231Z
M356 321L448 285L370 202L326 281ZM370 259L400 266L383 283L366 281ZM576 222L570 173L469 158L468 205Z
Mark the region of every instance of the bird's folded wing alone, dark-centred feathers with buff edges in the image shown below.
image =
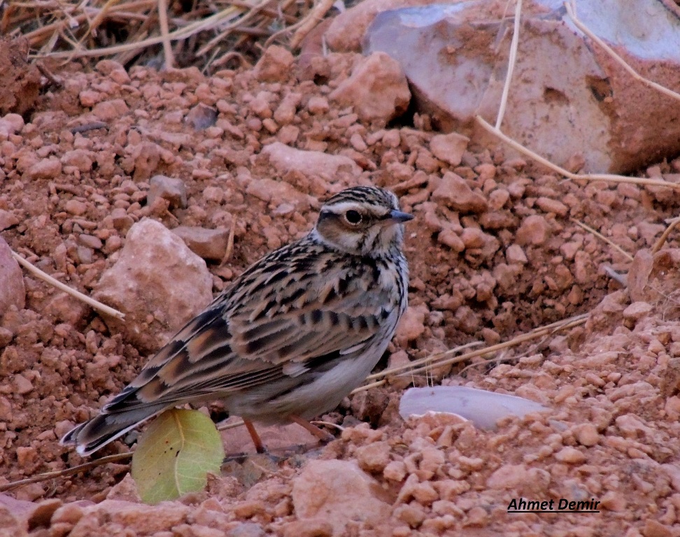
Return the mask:
M355 290L327 301L298 301L295 307L274 304L264 314L261 308L255 314L246 304L228 315L215 301L157 352L103 411L246 389L299 375L306 364L325 357L360 354L390 315L384 296L367 294Z

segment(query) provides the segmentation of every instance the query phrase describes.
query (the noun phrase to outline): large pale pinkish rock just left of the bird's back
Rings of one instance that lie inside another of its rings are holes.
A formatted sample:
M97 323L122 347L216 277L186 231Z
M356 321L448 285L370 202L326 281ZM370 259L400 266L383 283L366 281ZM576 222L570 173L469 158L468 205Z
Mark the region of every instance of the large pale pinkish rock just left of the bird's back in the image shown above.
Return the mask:
M97 284L94 298L125 313L106 317L140 350L155 350L213 299L206 262L160 222L145 218L127 232L120 257Z

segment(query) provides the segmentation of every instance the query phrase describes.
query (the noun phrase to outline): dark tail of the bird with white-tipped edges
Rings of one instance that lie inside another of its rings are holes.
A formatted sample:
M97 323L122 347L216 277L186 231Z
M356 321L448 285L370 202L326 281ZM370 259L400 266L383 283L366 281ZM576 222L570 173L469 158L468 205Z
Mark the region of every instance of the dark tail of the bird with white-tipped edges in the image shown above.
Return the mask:
M163 403L110 414L100 414L71 429L59 443L76 445L76 451L79 454L89 455L109 442L113 442L130 429L134 429L137 425L161 413L166 408L168 408L167 403Z

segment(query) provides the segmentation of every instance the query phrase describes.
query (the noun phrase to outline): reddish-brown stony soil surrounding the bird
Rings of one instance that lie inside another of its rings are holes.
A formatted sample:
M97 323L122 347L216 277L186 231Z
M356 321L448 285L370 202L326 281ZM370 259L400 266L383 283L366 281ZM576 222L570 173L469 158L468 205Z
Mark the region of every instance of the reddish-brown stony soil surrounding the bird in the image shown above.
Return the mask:
M2 238L128 315L116 323L17 275L3 252L0 483L83 462L59 436L132 380L197 303L306 233L318 200L348 185L389 187L416 215L406 237L411 307L379 367L590 313L490 366L413 379L553 410L496 431L445 415L404 422L396 412L404 382L395 382L326 416L345 427L330 445L232 461L183 501L139 503L125 464L13 489L0 496L0 534L680 535L677 233L649 253L677 215L677 193L563 180L502 145L466 148L438 136L425 115L381 124L380 113L358 113L334 92L357 62L354 54L293 62L272 49L254 69L210 78L196 69L128 73L111 61L88 73L67 66L62 87L27 120L0 120ZM374 99L402 88L392 90ZM678 182L680 159L642 173ZM572 219L637 254L628 287L604 267L625 272L630 260ZM146 230L139 241L133 227ZM116 262L148 293L109 285ZM209 410L224 417L218 405ZM225 431L227 446L242 432ZM290 447L302 437L268 438ZM102 454L127 449L117 442ZM507 513L520 496L594 499L600 513Z

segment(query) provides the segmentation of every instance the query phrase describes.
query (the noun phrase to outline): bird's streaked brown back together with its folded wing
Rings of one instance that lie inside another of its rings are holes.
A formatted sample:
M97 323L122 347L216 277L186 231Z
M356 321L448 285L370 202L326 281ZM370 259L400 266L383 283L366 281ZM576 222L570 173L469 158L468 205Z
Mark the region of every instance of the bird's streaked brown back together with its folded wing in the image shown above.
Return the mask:
M295 243L289 248L295 257ZM378 285L379 271L361 264L325 273L327 261L318 250L304 277L295 259L288 269L279 263L271 273L268 257L243 273L180 329L104 412L219 396L363 352L388 316L385 310L399 307L398 296ZM309 263L312 254L297 255Z

